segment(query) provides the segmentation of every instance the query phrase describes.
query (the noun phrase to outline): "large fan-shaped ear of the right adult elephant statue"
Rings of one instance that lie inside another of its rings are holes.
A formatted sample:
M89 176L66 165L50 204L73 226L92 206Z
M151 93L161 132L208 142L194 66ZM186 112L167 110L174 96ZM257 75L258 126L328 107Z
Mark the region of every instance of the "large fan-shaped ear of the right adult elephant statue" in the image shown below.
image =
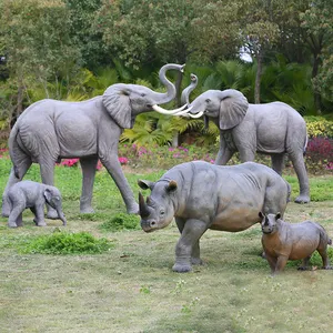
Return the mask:
M220 130L230 130L244 119L249 108L248 99L238 90L221 92Z

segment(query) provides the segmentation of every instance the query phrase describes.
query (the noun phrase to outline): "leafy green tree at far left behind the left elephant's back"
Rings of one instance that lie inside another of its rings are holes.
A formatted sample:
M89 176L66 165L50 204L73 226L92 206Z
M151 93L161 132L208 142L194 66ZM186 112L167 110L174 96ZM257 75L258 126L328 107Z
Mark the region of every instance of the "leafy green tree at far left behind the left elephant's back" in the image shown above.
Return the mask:
M49 98L50 80L67 78L77 70L79 51L69 37L69 13L60 0L2 0L0 44L7 59L10 82L17 90L14 114L23 110L28 85L40 85ZM56 89L56 98L60 98ZM28 97L29 98L29 97Z

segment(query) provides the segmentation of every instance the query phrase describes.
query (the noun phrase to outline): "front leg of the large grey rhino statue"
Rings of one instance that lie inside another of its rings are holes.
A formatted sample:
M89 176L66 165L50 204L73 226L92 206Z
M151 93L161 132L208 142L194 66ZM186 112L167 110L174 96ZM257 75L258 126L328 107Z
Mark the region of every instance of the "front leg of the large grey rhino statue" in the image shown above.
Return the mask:
M181 229L180 226L181 225L179 225L179 229ZM195 255L194 259L196 262L200 260L200 258L196 256L200 255L199 240L206 229L206 224L203 221L194 219L185 221L181 238L175 246L175 263L172 268L174 272L185 273L192 271L192 255Z

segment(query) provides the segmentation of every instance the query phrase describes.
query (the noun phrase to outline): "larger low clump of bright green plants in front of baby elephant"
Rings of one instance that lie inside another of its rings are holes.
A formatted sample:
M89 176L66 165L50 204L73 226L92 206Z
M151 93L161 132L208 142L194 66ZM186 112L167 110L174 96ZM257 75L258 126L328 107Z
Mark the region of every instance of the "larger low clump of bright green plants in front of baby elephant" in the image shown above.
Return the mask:
M28 239L22 245L22 253L43 254L99 254L114 245L107 239L97 239L89 232L54 232Z

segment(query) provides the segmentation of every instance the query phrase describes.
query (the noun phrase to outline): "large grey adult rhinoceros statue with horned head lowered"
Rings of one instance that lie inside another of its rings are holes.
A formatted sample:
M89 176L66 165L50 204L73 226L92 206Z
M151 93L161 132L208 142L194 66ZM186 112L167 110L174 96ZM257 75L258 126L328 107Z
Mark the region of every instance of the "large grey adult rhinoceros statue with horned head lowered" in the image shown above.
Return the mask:
M203 161L179 164L157 182L138 181L151 195L139 193L141 226L151 232L173 218L181 233L175 248L175 272L201 264L200 238L208 229L238 232L260 221L265 213L285 210L290 185L272 169L246 162L234 167Z

